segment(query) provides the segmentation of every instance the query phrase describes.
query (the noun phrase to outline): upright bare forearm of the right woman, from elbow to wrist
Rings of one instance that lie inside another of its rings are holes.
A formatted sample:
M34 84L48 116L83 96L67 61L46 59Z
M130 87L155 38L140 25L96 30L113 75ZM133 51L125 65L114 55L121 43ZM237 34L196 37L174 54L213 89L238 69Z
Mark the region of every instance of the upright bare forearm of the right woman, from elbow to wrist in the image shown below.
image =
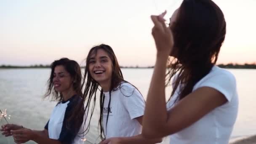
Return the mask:
M165 105L165 71L167 60L168 53L157 53L143 118L142 134L147 138L158 137L155 131L162 129L167 122L168 115Z

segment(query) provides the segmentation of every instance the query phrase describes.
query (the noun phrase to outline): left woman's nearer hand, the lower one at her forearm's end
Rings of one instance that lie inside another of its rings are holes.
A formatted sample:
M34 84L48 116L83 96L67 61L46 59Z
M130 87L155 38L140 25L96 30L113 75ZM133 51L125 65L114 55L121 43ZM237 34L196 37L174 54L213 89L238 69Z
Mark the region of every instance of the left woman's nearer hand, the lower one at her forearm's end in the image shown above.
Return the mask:
M33 138L33 131L28 128L21 128L19 130L11 131L14 142L17 144L25 143Z

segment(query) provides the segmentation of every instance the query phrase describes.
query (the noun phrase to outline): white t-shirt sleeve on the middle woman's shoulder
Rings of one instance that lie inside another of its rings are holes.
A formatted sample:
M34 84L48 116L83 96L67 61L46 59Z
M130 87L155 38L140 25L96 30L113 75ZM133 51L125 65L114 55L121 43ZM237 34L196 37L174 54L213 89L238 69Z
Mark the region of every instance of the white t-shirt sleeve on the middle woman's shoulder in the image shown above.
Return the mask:
M144 115L145 100L137 88L132 85L123 85L120 88L125 109L128 111L131 120Z

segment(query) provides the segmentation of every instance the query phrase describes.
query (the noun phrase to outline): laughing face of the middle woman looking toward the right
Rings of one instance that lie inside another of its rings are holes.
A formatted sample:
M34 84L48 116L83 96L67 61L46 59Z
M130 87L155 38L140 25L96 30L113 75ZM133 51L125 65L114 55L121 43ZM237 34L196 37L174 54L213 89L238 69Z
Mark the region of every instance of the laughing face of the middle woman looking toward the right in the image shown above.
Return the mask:
M93 52L89 58L89 72L91 77L100 85L110 84L112 77L112 61L103 49Z

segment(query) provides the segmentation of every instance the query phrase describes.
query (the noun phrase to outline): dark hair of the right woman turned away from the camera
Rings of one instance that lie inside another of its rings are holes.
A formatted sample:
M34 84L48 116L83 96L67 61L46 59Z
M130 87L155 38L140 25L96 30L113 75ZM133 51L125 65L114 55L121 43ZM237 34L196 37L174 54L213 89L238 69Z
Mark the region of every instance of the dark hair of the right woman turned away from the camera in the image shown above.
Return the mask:
M171 56L176 59L170 59L166 80L169 83L175 75L171 96L182 85L176 99L180 100L216 64L226 35L226 21L211 0L183 0L170 28L174 38Z

